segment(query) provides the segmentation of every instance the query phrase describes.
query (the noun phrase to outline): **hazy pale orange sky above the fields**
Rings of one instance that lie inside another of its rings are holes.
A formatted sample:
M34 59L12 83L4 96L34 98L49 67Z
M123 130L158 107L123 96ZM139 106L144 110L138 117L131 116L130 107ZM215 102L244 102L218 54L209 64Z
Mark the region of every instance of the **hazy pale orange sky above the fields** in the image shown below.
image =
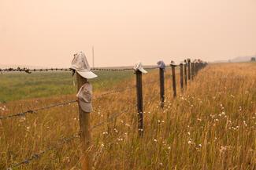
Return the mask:
M0 64L69 67L256 54L255 0L0 0Z

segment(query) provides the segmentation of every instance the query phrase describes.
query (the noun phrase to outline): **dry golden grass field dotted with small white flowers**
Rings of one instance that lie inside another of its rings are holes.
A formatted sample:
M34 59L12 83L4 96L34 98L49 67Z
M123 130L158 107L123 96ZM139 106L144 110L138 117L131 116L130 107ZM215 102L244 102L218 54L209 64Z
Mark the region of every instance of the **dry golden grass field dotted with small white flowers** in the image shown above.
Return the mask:
M256 64L210 64L187 89L173 99L170 70L165 74L165 108L159 107L158 71L143 75L144 136L137 133L135 88L93 101L91 113L95 169L256 169ZM179 76L177 76L177 84ZM154 83L152 82L154 81ZM150 82L150 83L148 83ZM128 77L112 86L135 85ZM101 94L95 90L95 96ZM75 95L16 100L0 104L0 114L12 114ZM121 114L122 113L122 114ZM114 114L117 118L95 127ZM58 139L79 132L78 108L65 107L0 121L0 169L24 161L49 146L22 170L80 169L80 140Z

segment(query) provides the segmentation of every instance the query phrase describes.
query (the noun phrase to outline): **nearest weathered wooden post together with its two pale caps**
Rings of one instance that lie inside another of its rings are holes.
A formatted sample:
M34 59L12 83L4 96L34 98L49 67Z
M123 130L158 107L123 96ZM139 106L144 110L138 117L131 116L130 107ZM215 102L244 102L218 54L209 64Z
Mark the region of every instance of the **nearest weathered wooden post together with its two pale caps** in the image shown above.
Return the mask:
M91 154L91 125L90 113L92 110L92 86L87 81L89 78L96 78L97 75L91 72L91 67L87 62L83 52L78 52L74 55L71 65L73 75L76 73L77 94L79 118L80 118L80 142L81 142L81 164L82 170L92 169L92 154Z

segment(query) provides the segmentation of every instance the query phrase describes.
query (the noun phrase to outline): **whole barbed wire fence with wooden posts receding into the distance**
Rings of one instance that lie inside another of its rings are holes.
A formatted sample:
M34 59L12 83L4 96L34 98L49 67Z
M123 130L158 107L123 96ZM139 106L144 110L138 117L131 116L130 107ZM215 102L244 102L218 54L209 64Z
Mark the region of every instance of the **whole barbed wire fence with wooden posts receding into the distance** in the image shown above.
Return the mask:
M181 92L184 92L184 85L185 87L187 87L187 85L189 85L188 81L194 80L195 79L195 75L198 74L198 71L202 70L202 68L206 67L207 63L206 62L202 62L202 60L194 60L193 62L191 62L190 59L184 60L184 63L180 63L179 65L174 64L173 62L163 68L163 67L158 67L158 66L150 66L150 67L145 67L146 69L152 70L152 69L159 69L159 79L156 81L150 81L150 82L145 82L145 85L150 85L152 83L156 83L159 81L159 95L160 95L160 105L161 108L164 108L165 105L165 72L169 71L167 70L167 68L171 68L171 76L172 78L170 78L172 80L172 86L173 86L173 97L176 97L176 67L180 67L180 89ZM115 67L115 68L92 68L92 71L134 71L134 69L132 67ZM29 68L5 68L5 69L1 69L0 68L0 73L3 72L24 72L24 73L28 73L28 74L32 74L33 71L72 71L72 69L70 68L42 68L42 69L29 69ZM137 70L135 71L135 80L136 80L136 85L132 85L131 87L127 87L124 89L115 89L109 92L104 92L98 96L95 96L95 99L99 99L102 98L104 96L108 96L117 92L124 92L126 90L130 90L132 91L132 89L135 89L136 91L136 99L137 99L137 105L136 110L137 110L137 114L138 114L138 134L139 136L143 137L143 74L141 71ZM77 76L77 82L78 82L78 89L80 88L81 85L83 85L84 83L84 79L80 78L79 76ZM169 87L168 87L169 88ZM47 110L53 107L63 107L66 105L70 105L71 103L77 103L78 100L70 100L70 101L66 101L63 103L54 103L54 104L50 104L49 106L46 107L40 107L40 108L36 108L34 110L26 110L24 112L20 112L17 114L8 114L8 115L2 115L0 116L0 121L4 121L6 119L9 118L15 118L15 117L24 117L27 114L36 114L38 111L40 110ZM78 105L79 106L79 105ZM47 147L45 150L40 151L38 154L32 154L31 157L28 157L27 159L24 159L24 161L20 161L20 163L16 163L11 165L9 168L7 169L13 169L13 168L18 168L21 165L28 165L28 163L30 163L31 161L34 161L36 159L39 159L39 157L41 157L43 154L45 154L46 152L48 152L49 150L54 150L56 149L58 146L62 146L66 143L70 143L72 140L80 138L82 139L82 143L87 143L87 138L91 138L91 129L97 128L98 126L104 125L106 122L109 121L113 121L114 118L117 118L119 116L121 116L122 114L124 114L125 112L127 112L130 108L128 107L125 111L122 111L120 113L117 114L112 114L111 117L109 117L106 121L102 121L100 123L98 123L97 125L93 125L91 127L90 122L81 122L80 121L80 133L79 134L74 134L72 136L69 137L65 137L65 138L61 138L58 141L56 141L55 145L53 146L49 146ZM80 118L83 115L83 111L80 110ZM90 114L87 114L87 117L90 116ZM89 118L85 118L86 120L89 120ZM84 125L85 124L85 125ZM91 127L91 128L90 128ZM91 143L87 143L87 145L83 146L83 150L87 150L89 147L91 146ZM92 164L91 164L91 152L87 152L87 151L83 151L83 156L85 156L85 158L81 159L81 163L82 163L82 169L91 169Z

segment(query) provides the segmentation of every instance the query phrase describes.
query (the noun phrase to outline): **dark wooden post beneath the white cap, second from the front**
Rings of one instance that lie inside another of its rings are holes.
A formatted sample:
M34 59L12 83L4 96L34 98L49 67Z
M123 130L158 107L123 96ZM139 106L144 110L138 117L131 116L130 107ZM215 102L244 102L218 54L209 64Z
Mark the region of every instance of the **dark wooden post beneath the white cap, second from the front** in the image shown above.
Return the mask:
M135 71L137 90L138 130L139 136L143 136L143 76L141 71Z

